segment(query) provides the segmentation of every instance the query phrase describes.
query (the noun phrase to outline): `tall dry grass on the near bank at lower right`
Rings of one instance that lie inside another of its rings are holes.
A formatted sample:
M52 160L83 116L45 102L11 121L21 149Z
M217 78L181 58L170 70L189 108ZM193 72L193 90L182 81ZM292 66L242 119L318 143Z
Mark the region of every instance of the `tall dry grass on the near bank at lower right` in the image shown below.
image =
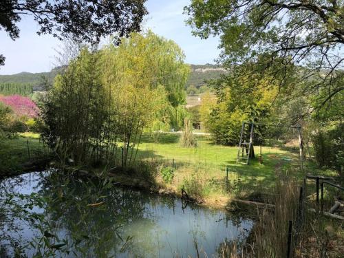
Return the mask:
M279 180L274 203L273 209L257 209L257 222L246 245L224 246L221 257L287 257L289 221L292 222L290 257L343 257L342 224L320 213L311 213L310 203L300 202L296 181Z

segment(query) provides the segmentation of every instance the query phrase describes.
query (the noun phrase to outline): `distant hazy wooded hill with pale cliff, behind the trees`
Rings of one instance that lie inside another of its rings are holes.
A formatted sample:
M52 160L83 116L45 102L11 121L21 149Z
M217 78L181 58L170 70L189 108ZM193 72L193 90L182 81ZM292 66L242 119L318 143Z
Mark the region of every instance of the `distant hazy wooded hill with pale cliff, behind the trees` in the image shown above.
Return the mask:
M43 78L47 78L52 82L60 69L61 67L57 67L52 69L51 72L40 72L36 74L21 72L19 74L0 75L0 83L28 83L32 85L34 91L42 91L44 90ZM200 88L205 84L205 80L219 78L224 73L226 73L226 70L219 67L219 65L191 65L191 74L185 88L190 85Z

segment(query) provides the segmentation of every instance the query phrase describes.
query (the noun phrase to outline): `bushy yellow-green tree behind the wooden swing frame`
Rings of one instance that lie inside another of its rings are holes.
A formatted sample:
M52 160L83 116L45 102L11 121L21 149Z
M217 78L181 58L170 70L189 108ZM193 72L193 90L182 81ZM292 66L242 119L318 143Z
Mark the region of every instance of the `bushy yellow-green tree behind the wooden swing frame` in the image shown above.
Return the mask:
M247 69L243 67L242 72L213 82L217 103L209 92L202 96L201 119L217 144L237 144L242 122L265 122L270 115L277 84L271 83L271 78L261 78L259 73L250 73L247 78ZM258 89L252 91L252 85ZM259 134L256 131L255 142L261 140Z

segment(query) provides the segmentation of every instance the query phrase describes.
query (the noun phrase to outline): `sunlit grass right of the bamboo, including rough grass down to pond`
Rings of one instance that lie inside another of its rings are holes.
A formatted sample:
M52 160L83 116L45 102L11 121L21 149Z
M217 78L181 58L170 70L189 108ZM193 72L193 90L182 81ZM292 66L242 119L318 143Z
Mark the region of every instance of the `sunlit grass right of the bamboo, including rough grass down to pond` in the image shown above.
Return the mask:
M275 186L277 171L292 178L303 178L298 169L297 151L262 147L263 164L259 164L257 159L252 160L250 165L238 164L237 147L213 144L207 136L196 137L197 148L183 148L176 133L164 133L158 142L144 134L139 147L140 158L148 155L162 160L164 166L174 164L174 180L171 183L160 182L164 187L179 191L183 186L193 185L196 187L189 187L189 191L197 189L196 195L215 203L227 202L228 192L232 196L249 199L270 193ZM255 153L259 155L259 146L255 147ZM226 167L229 169L227 184Z

